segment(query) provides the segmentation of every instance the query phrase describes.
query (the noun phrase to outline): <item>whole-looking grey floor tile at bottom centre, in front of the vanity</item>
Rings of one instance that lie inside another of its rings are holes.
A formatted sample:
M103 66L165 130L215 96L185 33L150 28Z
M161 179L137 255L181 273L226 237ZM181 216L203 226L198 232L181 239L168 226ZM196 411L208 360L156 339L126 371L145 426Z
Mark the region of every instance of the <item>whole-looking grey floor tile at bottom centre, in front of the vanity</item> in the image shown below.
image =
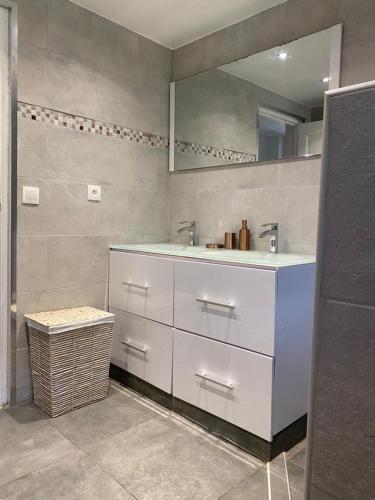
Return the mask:
M254 463L168 416L101 441L89 454L144 500L214 500L255 470Z

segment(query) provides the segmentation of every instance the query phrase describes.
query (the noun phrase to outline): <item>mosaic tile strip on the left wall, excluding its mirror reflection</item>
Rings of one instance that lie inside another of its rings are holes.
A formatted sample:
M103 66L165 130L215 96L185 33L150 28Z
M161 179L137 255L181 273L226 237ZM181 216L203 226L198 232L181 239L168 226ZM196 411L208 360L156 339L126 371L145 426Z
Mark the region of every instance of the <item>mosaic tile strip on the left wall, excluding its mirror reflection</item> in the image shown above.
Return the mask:
M18 116L30 120L50 123L72 130L80 130L81 132L89 134L123 139L154 148L168 149L169 147L169 140L167 137L123 127L122 125L113 125L112 123L105 123L100 120L85 118L84 116L56 111L20 101L17 103L17 110Z

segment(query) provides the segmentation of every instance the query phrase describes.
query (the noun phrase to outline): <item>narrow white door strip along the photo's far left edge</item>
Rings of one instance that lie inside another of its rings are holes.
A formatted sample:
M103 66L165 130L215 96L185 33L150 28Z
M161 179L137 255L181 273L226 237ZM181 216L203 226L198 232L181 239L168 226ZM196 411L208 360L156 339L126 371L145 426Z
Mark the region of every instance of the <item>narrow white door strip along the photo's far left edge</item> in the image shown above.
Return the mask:
M9 328L9 9L0 7L0 407L8 402Z

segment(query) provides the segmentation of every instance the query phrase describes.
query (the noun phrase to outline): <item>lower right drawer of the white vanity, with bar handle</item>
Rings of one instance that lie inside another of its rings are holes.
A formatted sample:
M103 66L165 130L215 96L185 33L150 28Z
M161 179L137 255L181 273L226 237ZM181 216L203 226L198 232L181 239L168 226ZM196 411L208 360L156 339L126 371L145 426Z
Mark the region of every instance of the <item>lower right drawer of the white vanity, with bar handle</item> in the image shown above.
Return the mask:
M273 358L174 331L173 395L272 440Z

